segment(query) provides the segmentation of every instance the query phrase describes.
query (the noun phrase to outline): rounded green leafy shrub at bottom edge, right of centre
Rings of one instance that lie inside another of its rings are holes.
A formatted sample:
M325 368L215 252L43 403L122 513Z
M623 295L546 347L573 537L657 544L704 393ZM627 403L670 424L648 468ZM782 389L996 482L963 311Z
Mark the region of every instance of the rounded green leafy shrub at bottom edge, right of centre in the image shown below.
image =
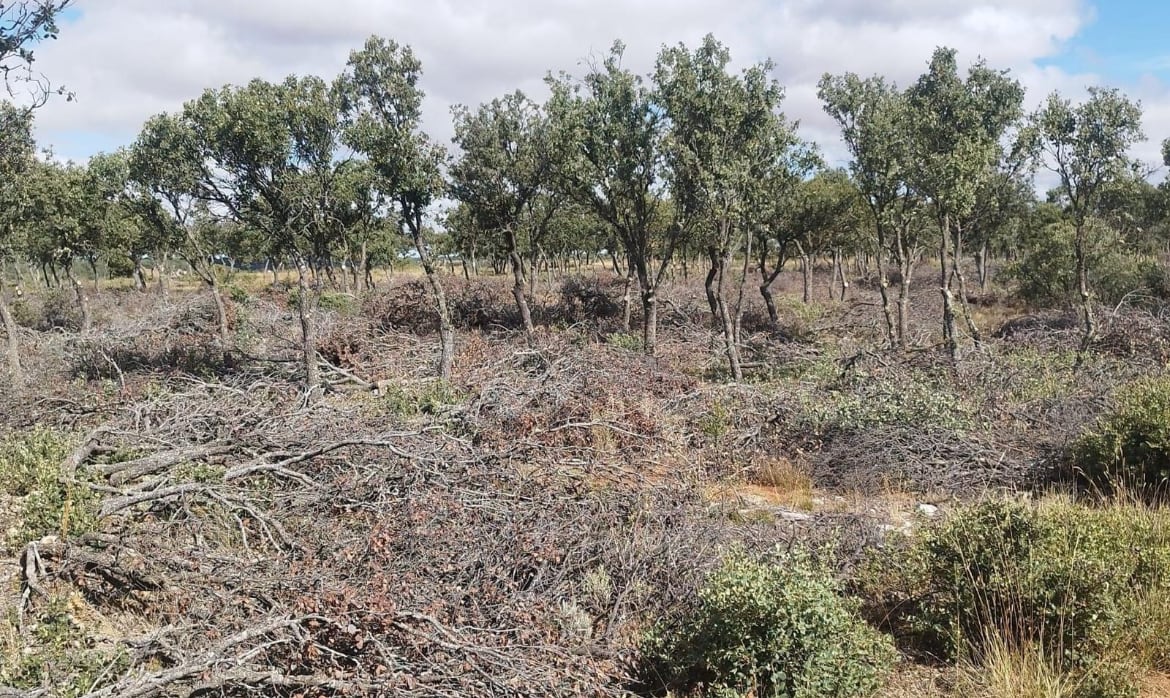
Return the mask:
M770 564L732 554L641 652L655 687L725 697L868 696L894 661L832 574L801 555Z

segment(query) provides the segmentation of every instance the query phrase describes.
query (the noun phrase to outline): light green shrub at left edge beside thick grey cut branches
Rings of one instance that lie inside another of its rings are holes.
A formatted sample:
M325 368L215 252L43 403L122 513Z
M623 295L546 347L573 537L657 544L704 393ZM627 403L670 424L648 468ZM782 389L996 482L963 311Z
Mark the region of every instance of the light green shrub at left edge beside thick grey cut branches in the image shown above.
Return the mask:
M94 530L96 497L85 483L68 481L61 472L70 450L69 440L50 429L0 440L0 491L22 498L21 521L7 534L9 546Z

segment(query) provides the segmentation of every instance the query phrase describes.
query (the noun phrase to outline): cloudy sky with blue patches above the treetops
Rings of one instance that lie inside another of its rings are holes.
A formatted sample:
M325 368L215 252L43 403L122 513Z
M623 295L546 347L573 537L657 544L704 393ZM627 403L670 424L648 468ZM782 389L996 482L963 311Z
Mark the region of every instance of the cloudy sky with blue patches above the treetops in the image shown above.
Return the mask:
M820 110L826 71L882 74L900 84L937 46L1011 69L1030 104L1059 89L1122 88L1145 109L1159 160L1170 137L1170 26L1164 0L78 0L37 67L77 96L39 112L39 138L85 159L133 140L146 117L207 87L289 74L337 75L370 34L411 44L424 64L426 127L450 137L453 104L517 88L543 95L549 71L583 72L615 39L648 71L665 43L707 33L738 65L771 58L785 111L831 160L842 151Z

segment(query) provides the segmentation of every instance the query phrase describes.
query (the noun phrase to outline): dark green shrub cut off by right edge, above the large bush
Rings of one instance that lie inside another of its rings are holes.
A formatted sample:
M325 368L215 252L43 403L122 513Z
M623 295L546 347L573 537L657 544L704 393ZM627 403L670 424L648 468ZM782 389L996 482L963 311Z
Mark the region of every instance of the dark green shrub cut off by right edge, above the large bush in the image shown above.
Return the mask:
M1122 388L1113 409L1073 442L1071 459L1099 485L1164 486L1170 478L1170 376Z

